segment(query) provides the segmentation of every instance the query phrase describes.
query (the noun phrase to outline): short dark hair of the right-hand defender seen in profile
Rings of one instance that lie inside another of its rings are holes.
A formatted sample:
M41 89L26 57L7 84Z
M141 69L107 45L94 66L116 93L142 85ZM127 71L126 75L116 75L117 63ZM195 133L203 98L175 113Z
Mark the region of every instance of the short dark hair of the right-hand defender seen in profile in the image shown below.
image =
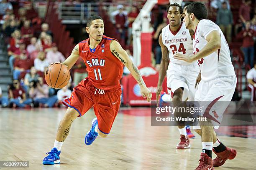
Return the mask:
M188 15L194 14L197 20L207 19L207 10L204 4L201 2L193 2L187 5L187 13Z

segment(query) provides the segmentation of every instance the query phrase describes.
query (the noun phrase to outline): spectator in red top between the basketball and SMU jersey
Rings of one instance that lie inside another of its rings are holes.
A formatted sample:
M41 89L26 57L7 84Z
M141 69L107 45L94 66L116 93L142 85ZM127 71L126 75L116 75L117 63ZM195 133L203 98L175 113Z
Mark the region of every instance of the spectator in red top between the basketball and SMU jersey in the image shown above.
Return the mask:
M74 85L78 85L78 83L87 77L86 66L84 64L84 60L82 57L79 57L76 64L73 66L74 68Z

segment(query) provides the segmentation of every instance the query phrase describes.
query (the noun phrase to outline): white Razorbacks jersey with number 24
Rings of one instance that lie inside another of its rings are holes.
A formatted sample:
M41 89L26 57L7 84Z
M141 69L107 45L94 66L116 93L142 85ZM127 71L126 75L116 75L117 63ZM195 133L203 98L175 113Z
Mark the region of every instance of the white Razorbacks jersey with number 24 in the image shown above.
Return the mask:
M180 65L191 64L183 60L176 60L173 57L175 53L181 53L187 56L193 55L193 41L185 23L181 23L177 32L172 32L169 24L164 27L162 30L162 41L169 51L170 62Z

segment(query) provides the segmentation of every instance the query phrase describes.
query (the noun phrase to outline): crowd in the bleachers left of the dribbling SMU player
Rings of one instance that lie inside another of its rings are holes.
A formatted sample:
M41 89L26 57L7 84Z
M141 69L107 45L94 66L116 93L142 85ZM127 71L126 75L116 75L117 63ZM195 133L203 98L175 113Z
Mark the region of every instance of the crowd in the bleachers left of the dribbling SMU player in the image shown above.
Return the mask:
M61 100L69 97L72 83L61 90L50 88L44 79L44 72L53 62L63 62L64 55L53 42L49 25L42 19L29 18L27 9L18 8L13 13L10 2L0 3L1 32L8 44L8 60L13 73L13 82L8 86L8 97L3 97L0 88L0 102L3 107L62 107Z

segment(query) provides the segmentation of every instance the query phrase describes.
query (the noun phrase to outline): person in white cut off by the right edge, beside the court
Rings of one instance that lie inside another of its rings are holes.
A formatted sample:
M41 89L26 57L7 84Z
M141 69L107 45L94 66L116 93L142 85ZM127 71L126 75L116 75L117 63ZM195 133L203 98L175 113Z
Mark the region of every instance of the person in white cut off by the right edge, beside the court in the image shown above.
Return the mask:
M256 101L256 62L254 67L246 75L248 88L251 91L251 101Z

